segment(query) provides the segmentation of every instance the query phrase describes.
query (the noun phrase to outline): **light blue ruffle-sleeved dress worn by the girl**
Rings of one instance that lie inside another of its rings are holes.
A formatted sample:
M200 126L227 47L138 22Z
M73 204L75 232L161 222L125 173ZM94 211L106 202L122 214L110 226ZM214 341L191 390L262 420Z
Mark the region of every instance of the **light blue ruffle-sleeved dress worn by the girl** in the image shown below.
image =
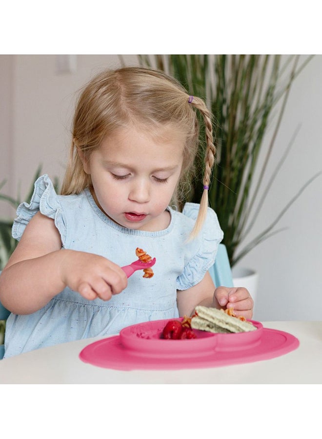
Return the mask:
M135 272L126 289L108 301L86 300L67 287L33 314L11 314L5 358L57 343L117 334L143 321L178 317L177 290L203 279L223 237L217 215L209 208L199 236L187 240L198 209L199 204L193 203L187 203L183 213L168 207L170 224L158 232L127 229L103 214L88 189L61 196L47 175L40 177L30 204L22 203L17 210L14 238L20 239L28 221L40 211L55 221L62 248L95 253L123 266L137 259L135 250L140 247L157 262L152 278Z

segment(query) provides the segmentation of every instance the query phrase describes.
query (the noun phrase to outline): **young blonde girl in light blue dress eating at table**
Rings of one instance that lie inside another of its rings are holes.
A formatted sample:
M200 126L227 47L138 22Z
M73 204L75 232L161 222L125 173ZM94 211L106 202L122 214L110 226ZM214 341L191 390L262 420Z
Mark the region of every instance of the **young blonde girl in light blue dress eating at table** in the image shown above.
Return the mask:
M180 200L205 123L201 204ZM222 239L207 189L215 148L204 102L164 73L104 71L77 104L70 160L57 195L47 175L17 211L20 242L0 276L5 357L65 341L116 334L147 320L191 315L198 304L252 317L244 288L215 289L208 269ZM153 258L154 276L121 266Z

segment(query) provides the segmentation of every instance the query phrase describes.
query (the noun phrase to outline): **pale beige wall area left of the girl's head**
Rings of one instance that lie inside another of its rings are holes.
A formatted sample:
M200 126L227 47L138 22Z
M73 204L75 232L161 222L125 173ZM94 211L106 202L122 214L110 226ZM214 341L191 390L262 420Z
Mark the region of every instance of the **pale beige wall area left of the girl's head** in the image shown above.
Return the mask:
M58 73L55 55L13 56L13 181L29 185L39 163L62 178L80 87L101 69L119 65L116 55L79 55L76 72Z

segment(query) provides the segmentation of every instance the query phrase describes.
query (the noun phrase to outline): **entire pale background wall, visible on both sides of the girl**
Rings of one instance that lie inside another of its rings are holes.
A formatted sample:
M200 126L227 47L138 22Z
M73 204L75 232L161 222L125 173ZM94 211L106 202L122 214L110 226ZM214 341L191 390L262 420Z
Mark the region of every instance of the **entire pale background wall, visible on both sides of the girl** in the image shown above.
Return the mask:
M124 57L135 64L135 56ZM116 55L78 55L72 73L57 73L55 55L0 56L0 181L15 195L27 192L36 168L51 177L64 174L69 128L79 88L104 67L120 65ZM254 226L262 231L302 184L322 169L322 56L316 56L294 83L268 176L297 125L301 130ZM268 139L267 139L268 141ZM240 265L260 273L255 318L320 320L322 316L322 177L279 223L286 231L264 241ZM0 204L0 216L6 213Z

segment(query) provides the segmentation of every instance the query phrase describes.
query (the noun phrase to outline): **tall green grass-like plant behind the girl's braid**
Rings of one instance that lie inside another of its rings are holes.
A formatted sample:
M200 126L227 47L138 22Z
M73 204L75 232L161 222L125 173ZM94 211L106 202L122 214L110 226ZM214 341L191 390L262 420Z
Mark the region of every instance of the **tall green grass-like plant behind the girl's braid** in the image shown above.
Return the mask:
M294 80L313 58L299 55L141 55L142 66L156 66L175 77L187 93L205 99L214 114L217 161L209 189L209 204L218 215L224 232L223 243L233 266L252 248L277 231L273 228L286 210L318 175L304 184L292 200L285 204L262 233L250 243L241 243L258 220L267 193L289 153L282 155L274 175L262 191L284 109ZM197 113L198 114L198 113ZM265 146L261 169L259 155L263 150L268 127L272 137ZM204 151L204 129L201 123L201 146ZM256 172L255 172L256 171ZM190 198L200 202L202 194L203 157L197 158L197 172ZM256 178L255 175L259 175ZM259 194L261 189L261 196ZM256 207L255 207L256 206Z

